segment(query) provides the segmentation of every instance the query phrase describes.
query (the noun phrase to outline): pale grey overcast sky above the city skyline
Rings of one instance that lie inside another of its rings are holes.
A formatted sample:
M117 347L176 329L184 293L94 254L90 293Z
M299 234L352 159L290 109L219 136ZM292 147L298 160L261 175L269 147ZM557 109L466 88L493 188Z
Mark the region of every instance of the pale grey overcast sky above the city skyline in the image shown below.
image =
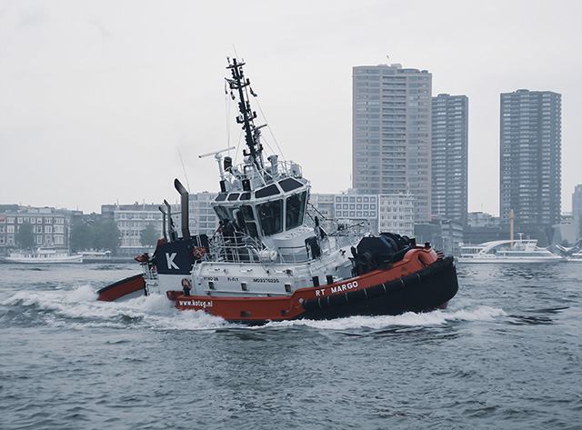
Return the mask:
M351 184L352 67L386 63L468 96L469 211L499 213L499 95L520 88L562 95L563 211L582 184L580 0L0 0L0 204L218 191L198 155L238 145L235 55L315 193Z

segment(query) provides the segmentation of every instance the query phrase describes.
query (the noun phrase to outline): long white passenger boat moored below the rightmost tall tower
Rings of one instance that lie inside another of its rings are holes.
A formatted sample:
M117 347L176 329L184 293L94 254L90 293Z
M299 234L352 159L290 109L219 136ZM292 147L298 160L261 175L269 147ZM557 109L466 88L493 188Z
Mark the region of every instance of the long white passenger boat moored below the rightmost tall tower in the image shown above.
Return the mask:
M564 258L537 246L535 239L496 240L461 247L460 263L557 263Z

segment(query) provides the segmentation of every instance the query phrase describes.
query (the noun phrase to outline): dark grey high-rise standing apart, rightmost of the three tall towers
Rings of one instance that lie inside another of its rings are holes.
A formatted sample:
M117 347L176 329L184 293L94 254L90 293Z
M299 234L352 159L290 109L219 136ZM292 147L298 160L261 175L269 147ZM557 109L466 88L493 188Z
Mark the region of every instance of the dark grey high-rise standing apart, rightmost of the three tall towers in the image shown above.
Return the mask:
M501 94L499 213L515 214L515 232L546 246L561 215L561 95L517 90Z

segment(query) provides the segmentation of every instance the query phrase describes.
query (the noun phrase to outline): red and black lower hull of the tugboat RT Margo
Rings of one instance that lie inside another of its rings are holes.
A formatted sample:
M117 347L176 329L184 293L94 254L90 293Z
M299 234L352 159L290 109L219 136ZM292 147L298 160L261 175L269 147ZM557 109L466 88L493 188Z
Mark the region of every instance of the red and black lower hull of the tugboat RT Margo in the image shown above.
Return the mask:
M287 297L213 297L176 291L173 298L180 310L204 311L231 322L260 325L304 318L429 312L446 308L457 291L453 257L418 248L409 250L389 268L330 285L300 288Z

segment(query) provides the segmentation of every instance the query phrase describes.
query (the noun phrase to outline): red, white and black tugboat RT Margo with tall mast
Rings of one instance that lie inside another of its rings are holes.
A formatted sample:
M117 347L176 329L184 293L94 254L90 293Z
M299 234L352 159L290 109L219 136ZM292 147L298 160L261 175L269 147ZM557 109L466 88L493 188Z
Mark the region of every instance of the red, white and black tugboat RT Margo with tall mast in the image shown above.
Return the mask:
M229 59L232 76L226 78L245 132L243 163L223 159L226 150L209 154L220 175L212 202L220 220L216 234L190 235L188 192L176 179L181 235L165 201L164 237L154 255L136 257L143 274L105 286L97 299L161 294L179 310L246 324L445 308L458 290L452 256L428 243L416 245L414 238L370 235L363 223L324 229L323 218L308 205L310 183L301 166L264 155L265 125L255 125L249 102L255 94L244 65Z

